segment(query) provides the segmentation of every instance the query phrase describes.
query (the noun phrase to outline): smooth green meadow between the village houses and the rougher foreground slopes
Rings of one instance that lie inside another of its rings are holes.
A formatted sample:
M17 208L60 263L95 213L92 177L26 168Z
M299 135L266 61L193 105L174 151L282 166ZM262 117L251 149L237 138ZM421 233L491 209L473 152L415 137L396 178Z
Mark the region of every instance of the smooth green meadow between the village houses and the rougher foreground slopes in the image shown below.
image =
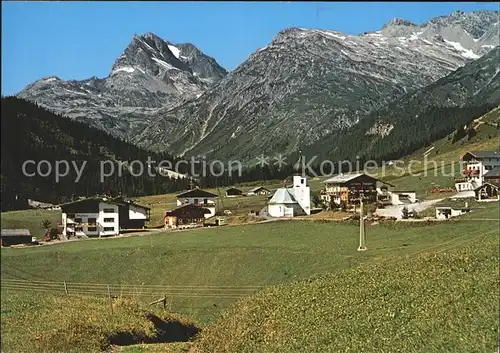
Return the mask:
M488 209L487 209L488 211ZM498 230L476 222L367 226L369 252L359 253L358 228L331 222L278 221L115 239L2 249L2 280L162 286L269 286L406 256L463 236ZM481 229L481 228L480 228ZM19 266L22 264L22 266ZM71 291L71 287L70 287ZM169 298L176 311L207 322L234 298Z

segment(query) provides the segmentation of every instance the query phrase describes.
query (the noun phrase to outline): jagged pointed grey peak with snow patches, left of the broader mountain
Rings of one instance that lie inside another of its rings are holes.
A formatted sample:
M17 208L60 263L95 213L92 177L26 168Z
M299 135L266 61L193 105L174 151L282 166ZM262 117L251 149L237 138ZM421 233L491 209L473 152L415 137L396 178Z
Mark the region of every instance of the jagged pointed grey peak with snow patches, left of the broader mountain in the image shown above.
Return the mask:
M146 33L132 39L108 77L83 81L47 77L18 97L128 138L150 124L158 109L196 99L226 74L194 45L174 45Z

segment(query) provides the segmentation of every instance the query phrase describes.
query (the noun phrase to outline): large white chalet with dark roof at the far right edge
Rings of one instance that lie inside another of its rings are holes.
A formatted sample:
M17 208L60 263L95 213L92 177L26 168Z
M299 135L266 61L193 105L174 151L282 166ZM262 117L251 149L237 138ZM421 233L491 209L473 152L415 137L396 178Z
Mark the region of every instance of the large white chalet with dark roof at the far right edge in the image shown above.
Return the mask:
M460 159L462 178L455 181L458 192L473 191L483 185L484 175L500 167L500 151L469 151Z

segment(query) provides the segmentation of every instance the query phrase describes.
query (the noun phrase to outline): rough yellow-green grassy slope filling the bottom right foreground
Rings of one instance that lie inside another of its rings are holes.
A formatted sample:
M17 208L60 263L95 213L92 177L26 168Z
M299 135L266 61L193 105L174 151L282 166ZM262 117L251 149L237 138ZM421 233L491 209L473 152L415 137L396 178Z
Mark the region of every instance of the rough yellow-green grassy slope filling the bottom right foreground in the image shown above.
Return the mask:
M274 287L204 330L196 352L494 352L498 237ZM435 249L434 249L435 251Z

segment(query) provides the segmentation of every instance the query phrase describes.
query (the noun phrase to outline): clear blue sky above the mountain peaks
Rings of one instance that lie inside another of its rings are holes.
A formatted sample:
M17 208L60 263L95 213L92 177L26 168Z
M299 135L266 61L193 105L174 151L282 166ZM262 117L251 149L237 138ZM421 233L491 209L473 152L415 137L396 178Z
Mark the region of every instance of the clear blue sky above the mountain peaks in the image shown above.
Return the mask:
M382 2L2 2L2 94L44 77L104 77L134 34L191 42L234 69L282 29L349 34L375 31L394 17L415 23L498 3Z

